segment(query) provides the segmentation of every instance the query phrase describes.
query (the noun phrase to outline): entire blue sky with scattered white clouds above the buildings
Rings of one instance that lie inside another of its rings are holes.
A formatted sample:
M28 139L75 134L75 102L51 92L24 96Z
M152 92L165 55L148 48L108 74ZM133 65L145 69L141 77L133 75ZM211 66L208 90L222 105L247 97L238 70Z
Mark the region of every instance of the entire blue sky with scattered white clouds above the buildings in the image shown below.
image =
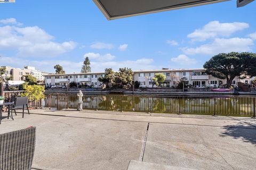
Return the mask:
M222 52L256 51L256 2L236 1L107 21L91 0L0 3L0 65L54 72L201 68Z

